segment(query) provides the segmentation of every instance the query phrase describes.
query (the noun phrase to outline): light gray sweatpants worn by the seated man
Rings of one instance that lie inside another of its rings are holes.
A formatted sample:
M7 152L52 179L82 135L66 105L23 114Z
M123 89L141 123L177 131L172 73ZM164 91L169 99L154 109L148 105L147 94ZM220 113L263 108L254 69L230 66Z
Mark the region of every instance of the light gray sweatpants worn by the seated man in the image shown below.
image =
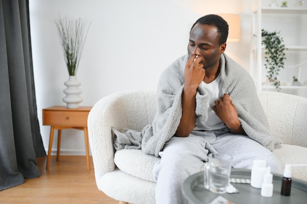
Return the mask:
M275 155L248 136L206 132L205 136L172 137L159 153L161 159L153 167L156 181L156 204L187 204L182 183L200 171L208 153L224 153L233 157L233 168L252 168L254 159L264 159L272 172L282 173Z

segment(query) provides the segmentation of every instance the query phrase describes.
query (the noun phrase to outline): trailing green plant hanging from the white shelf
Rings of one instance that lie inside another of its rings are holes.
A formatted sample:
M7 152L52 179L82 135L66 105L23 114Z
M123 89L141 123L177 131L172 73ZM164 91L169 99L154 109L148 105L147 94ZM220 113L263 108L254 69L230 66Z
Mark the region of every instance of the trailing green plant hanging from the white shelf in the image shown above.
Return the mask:
M261 30L262 44L265 45L265 63L264 66L267 69L270 82L274 83L277 91L280 91L281 82L278 80L278 75L281 68L284 68L283 61L285 58L284 50L285 45L283 38L280 36L280 32L269 32L267 30Z

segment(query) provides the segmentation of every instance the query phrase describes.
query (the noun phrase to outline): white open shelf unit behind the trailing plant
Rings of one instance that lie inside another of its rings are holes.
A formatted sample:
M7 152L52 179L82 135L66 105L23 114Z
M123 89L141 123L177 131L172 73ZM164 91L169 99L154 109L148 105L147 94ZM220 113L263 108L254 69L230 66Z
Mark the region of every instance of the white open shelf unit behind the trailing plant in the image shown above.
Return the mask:
M274 86L263 85L267 70L264 68L264 46L261 29L280 31L287 50L284 69L279 79L281 92L307 97L307 5L305 7L268 7L270 0L252 1L252 45L250 52L251 75L257 90L276 91ZM288 1L289 2L289 1ZM302 86L292 86L293 76Z

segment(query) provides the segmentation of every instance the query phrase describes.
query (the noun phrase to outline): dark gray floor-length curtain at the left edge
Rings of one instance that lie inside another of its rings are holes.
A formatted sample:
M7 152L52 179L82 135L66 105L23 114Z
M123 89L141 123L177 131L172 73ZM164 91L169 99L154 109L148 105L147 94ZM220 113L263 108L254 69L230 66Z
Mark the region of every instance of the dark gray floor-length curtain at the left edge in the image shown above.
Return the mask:
M40 176L28 0L0 0L0 190Z

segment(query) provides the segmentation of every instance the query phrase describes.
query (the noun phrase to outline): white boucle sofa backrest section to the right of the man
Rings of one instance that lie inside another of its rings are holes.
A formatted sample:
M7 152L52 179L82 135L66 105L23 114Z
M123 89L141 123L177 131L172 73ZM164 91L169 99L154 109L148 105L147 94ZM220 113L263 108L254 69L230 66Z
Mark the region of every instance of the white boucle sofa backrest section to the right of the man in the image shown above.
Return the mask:
M307 98L275 91L259 91L258 96L273 136L307 147Z

